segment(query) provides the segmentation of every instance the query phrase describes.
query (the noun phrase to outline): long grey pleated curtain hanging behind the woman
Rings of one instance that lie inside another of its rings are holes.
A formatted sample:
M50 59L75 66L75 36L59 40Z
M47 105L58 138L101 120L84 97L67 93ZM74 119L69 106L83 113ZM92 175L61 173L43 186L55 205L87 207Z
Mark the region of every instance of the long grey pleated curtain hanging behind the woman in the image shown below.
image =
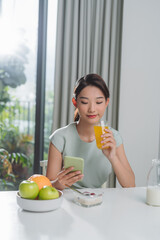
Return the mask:
M110 90L106 119L117 128L123 0L59 0L53 130L73 121L75 81L88 73Z

